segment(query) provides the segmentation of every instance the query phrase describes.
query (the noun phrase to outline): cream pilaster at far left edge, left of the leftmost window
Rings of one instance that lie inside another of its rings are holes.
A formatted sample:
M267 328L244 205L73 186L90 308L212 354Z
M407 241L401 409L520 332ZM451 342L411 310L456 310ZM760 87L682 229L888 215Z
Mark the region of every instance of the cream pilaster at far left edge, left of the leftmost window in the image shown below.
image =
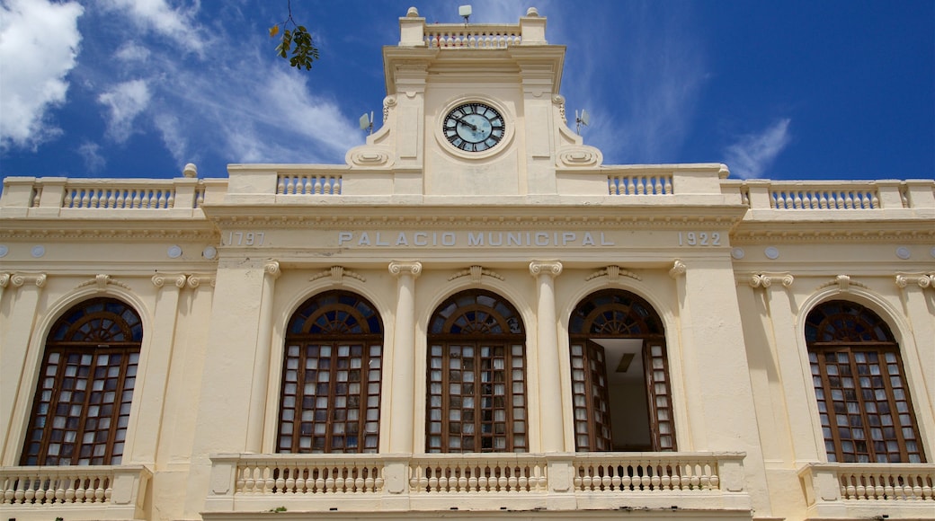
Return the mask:
M0 444L3 444L3 452L0 453L0 465L17 465L20 457L20 444L22 444L22 428L15 429L16 425L22 424L22 415L28 415L29 404L22 410L21 414L13 414L13 407L16 405L16 398L19 394L21 382L33 382L32 371L26 371L27 367L33 367L36 364L29 365L26 358L29 353L29 340L33 336L36 320L36 306L39 302L39 296L46 285L46 274L23 274L14 273L5 274L4 280L13 286L13 290L4 291L9 293L7 299L7 309L9 315L6 318L0 318ZM44 339L37 342L44 343ZM42 356L42 349L37 349L33 353L34 357ZM27 392L24 390L24 392ZM30 398L36 388L28 389Z

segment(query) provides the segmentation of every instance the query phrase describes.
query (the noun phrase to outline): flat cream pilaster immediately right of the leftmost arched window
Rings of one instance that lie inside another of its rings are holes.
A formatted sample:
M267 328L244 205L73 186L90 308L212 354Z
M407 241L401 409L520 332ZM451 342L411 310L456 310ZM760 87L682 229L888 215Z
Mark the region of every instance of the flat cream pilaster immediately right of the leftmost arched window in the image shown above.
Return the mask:
M134 425L127 429L126 463L154 463L165 404L172 347L175 345L176 317L179 315L179 295L185 287L185 275L152 275L156 287L156 310L152 320L151 342L140 352L140 367L133 397Z

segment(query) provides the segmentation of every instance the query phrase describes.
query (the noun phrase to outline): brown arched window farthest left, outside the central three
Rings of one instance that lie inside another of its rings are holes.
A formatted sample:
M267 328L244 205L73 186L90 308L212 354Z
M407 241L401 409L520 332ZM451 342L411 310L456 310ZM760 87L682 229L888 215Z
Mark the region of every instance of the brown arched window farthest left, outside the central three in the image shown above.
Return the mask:
M22 465L117 465L143 326L120 301L79 303L46 339Z

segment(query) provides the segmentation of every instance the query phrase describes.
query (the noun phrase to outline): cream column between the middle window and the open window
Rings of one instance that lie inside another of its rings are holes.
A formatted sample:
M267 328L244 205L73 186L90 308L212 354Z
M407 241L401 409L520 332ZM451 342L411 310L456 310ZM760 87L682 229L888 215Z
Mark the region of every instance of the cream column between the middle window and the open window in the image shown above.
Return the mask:
M562 273L558 260L533 260L529 274L536 278L536 352L539 355L539 435L542 452L565 452L562 382L559 377L558 322L555 320L554 277ZM556 410L559 413L556 414Z

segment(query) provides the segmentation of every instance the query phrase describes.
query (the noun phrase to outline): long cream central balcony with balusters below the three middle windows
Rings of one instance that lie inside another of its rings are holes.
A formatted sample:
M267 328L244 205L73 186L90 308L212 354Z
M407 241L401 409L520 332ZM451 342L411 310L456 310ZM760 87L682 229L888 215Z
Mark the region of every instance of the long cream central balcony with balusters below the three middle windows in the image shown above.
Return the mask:
M217 455L204 517L627 510L750 519L742 460L739 453Z

